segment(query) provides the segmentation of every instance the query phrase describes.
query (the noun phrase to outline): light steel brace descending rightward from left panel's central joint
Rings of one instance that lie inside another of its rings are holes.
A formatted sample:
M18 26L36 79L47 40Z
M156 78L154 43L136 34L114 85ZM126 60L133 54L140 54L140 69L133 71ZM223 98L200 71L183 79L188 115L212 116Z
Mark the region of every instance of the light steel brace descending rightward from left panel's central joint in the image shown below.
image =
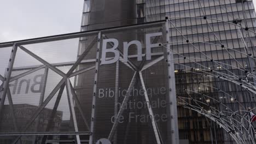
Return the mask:
M68 98L68 105L69 105L70 115L73 119L75 132L78 132L77 117L75 117L74 103L73 103L73 98L71 97L72 92L71 92L71 86L70 86L69 78L67 78L67 80L66 80L66 90L67 90L67 98ZM80 136L78 134L75 135L75 141L77 142L77 144L81 144Z

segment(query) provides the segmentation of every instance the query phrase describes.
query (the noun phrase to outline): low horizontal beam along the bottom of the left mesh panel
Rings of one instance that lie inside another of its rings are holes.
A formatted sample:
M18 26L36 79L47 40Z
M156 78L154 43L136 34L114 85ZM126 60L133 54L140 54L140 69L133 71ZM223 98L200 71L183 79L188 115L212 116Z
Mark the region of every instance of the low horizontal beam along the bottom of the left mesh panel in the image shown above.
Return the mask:
M90 131L79 132L20 132L20 133L0 133L0 136L20 136L20 135L91 135Z

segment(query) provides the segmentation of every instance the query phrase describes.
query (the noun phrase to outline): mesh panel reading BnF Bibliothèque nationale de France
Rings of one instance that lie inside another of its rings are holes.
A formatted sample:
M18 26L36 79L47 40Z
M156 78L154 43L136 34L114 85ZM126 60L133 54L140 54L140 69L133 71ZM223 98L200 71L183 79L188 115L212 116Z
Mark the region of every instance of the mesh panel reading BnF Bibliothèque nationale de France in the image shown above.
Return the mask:
M159 83L153 80L158 76L163 79L168 77L164 60L166 49L159 45L165 43L165 33L162 23L102 32L101 61L97 80L94 81L97 91L95 103L92 103L92 143L103 139L113 143L168 141L167 122L170 115L167 114L168 98L164 92L168 85L165 80ZM161 70L155 71L152 65ZM147 68L149 73L142 73L143 70L148 71ZM147 79L145 83L139 73ZM146 85L147 92L143 85ZM156 91L162 91L161 96ZM152 109L152 105L158 110Z

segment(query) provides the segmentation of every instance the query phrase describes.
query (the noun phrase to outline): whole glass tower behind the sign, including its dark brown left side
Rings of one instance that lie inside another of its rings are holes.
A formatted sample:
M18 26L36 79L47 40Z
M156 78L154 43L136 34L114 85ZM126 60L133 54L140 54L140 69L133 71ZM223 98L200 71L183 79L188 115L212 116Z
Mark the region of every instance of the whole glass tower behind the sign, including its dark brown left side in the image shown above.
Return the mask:
M235 111L242 115L244 111L255 107L254 94L243 87L243 82L241 82L241 80L248 80L248 83L251 82L252 85L255 82L253 77L247 77L248 73L252 74L254 71L254 56L256 55L254 47L256 44L254 33L256 15L252 1L84 1L81 31L161 21L165 20L166 17L170 20L169 43L175 63L180 142L235 143L230 134L241 135L241 132L236 132L238 129L235 131L226 130L202 111L226 112L217 117L218 119L225 119L223 117L232 117ZM127 33L124 32L123 34ZM128 37L144 39L138 34L127 34L127 37L121 37L121 35L115 33L113 37L117 39L127 39ZM86 41L88 39L80 40L78 53L84 51L83 47L86 47ZM152 76L157 75L162 69L160 63L157 65L150 72ZM115 67L115 65L109 66L106 71L115 73ZM202 69L208 71L202 71ZM228 78L238 79L240 82L237 85ZM109 79L109 81L114 80L115 77ZM120 78L119 81L121 82ZM164 81L161 79L156 81L152 78L152 82L161 83ZM86 88L86 84L80 81L80 86L82 85ZM106 87L109 84L105 81L102 85ZM83 89L83 86L80 88ZM150 87L149 84L148 87ZM86 100L87 98L85 98ZM199 101L202 101L201 104ZM103 103L107 104L106 101ZM200 107L201 110L195 110L194 105ZM159 109L160 113L164 113L164 111L164 109ZM101 117L102 113L98 112L97 115ZM100 121L104 122L104 120ZM169 136L168 130L165 131L164 129L167 125L159 125L162 139L166 140L164 143L168 141ZM131 131L128 128L119 128L118 134L115 134L115 143L125 143L120 139L125 139L126 143L156 143L153 142L152 134L147 133L149 129L144 127L143 123L137 125L127 123L126 127L137 129ZM129 130L130 133L127 132ZM126 131L125 134L123 134L124 131ZM109 133L109 131L104 132L102 129L99 135L104 137L104 133ZM127 136L132 140L128 140ZM96 139L100 139L100 137Z

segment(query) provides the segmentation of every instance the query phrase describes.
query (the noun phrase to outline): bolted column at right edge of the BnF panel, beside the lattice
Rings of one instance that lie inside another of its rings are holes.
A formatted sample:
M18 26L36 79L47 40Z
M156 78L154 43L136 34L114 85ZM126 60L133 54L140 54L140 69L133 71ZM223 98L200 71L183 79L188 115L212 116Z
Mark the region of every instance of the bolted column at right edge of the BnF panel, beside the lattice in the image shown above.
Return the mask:
M167 70L168 70L168 95L170 103L170 115L171 115L171 143L179 144L179 131L178 131L178 115L177 115L177 100L176 100L176 88L175 88L175 75L174 75L174 62L173 53L170 50L170 35L168 17L166 17L166 51L167 51Z

